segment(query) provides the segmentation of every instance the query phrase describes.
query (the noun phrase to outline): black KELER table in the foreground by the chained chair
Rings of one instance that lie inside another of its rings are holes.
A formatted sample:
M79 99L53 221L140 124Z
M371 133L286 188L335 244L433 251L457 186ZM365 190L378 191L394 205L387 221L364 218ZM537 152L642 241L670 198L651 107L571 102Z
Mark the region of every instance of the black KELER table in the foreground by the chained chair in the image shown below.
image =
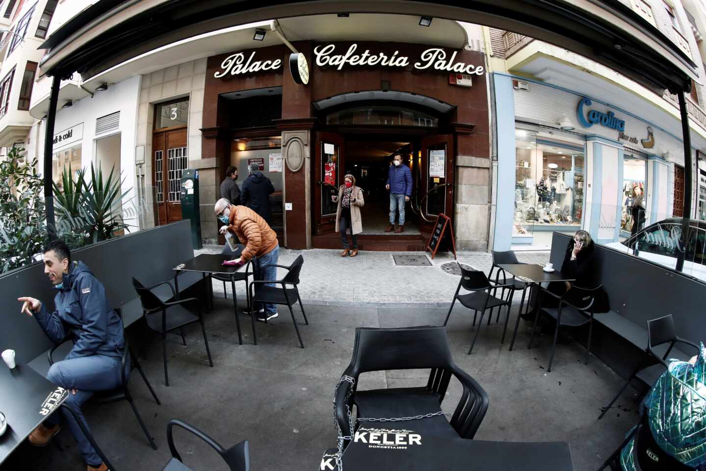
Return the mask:
M417 433L404 422L396 422L357 429L343 452L342 467L345 471L573 471L573 460L565 442L448 438ZM324 455L321 470L335 470L330 451Z

